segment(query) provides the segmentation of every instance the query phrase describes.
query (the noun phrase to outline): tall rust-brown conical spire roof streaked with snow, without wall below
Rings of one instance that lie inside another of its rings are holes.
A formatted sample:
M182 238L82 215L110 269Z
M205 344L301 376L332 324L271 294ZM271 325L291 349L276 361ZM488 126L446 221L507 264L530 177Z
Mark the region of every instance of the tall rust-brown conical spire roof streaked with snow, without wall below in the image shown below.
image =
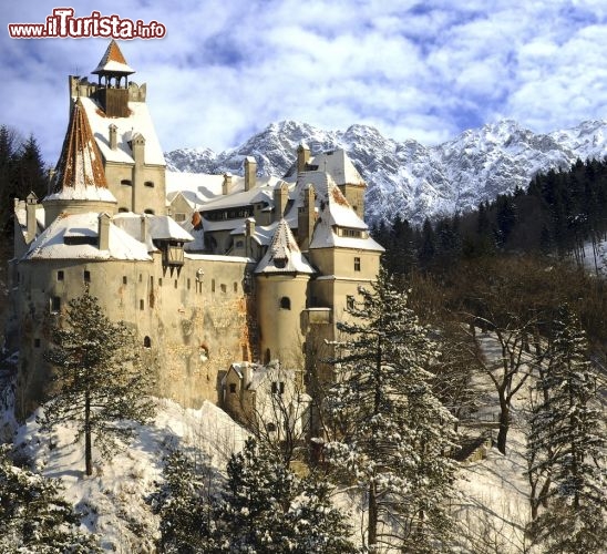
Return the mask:
M72 107L50 195L45 199L116 202L107 188L101 153L80 99Z

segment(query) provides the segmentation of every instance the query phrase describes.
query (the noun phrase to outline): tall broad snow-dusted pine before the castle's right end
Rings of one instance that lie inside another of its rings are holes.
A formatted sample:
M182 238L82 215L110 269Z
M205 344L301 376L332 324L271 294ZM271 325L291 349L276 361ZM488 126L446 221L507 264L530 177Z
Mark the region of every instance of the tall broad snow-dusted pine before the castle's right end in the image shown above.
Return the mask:
M454 462L454 419L431 389L439 352L384 270L352 322L339 322L337 382L326 406L332 440L326 456L364 492L367 546L407 552L449 548L447 513Z

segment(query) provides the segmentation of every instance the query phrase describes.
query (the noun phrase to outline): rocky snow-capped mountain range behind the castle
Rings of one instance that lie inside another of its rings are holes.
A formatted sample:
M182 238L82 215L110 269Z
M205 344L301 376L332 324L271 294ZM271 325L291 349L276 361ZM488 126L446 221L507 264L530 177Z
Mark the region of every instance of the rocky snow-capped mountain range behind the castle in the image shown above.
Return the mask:
M367 125L322 131L284 121L220 154L208 148L176 150L167 153L166 160L174 171L238 174L244 157L251 155L257 158L259 174L281 176L294 163L301 142L312 154L336 147L348 152L369 185L369 220L392 220L400 215L419 224L426 216L466 212L517 185L526 187L537 172L568 168L578 157L604 158L607 121L536 134L503 120L436 146L387 138Z

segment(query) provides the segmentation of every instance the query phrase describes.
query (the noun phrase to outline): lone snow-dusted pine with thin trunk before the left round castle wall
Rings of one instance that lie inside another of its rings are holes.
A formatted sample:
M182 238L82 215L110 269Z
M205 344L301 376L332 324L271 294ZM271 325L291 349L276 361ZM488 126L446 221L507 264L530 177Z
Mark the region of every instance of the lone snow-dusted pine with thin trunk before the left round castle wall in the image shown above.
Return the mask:
M53 383L42 423L50 428L75 422L76 438L84 437L86 475L93 473L93 439L103 456L117 439L132 437L133 425L153 416L146 396L150 376L140 366L134 332L123 321L112 322L99 300L85 293L69 302L65 326L52 330L54 346L45 352L52 363Z

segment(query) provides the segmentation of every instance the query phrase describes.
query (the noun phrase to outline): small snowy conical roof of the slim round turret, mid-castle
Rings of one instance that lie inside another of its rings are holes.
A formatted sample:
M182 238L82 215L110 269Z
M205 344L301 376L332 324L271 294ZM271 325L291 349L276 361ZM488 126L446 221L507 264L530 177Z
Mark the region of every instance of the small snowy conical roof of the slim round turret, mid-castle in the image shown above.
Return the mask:
M313 274L309 261L304 257L285 219L280 219L271 244L255 268L256 274Z

